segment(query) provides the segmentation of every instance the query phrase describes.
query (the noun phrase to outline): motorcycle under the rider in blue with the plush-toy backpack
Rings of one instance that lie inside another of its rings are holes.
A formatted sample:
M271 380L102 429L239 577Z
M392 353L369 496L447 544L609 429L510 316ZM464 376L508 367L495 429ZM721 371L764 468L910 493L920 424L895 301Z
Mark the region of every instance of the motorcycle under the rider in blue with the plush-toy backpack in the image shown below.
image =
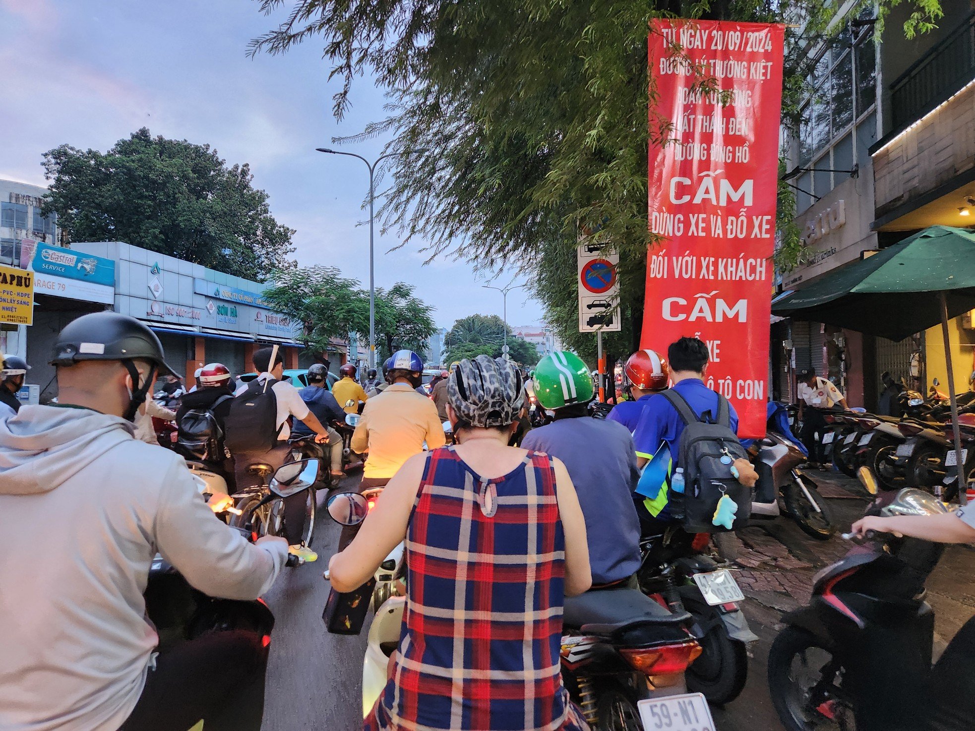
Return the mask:
M673 613L686 610L701 656L687 669L687 690L709 702L737 698L748 678L748 643L758 639L739 608L744 601L731 571L707 555L710 533L676 525L641 540L640 589Z

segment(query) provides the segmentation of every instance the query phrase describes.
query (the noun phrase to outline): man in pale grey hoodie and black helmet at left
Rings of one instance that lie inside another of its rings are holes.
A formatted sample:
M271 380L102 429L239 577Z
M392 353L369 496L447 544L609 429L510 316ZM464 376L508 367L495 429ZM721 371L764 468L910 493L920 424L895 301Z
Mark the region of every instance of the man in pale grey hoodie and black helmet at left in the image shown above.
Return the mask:
M185 731L260 727L267 650L246 630L157 655L142 593L157 552L210 596L254 599L288 547L215 519L182 458L133 438L159 338L133 318L61 330L59 404L0 422L0 728ZM38 537L43 536L43 545Z

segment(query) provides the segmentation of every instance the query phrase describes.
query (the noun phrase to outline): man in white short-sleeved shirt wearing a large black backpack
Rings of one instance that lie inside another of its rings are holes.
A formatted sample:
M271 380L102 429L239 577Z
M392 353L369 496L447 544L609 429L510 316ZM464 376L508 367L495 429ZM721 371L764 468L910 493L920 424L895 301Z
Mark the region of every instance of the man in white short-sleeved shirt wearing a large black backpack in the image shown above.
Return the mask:
M285 374L285 361L281 352L276 348L261 348L254 352L253 360L254 367L260 373L257 380L261 383L266 383L268 380L274 381L271 390L274 392L277 401L274 427L278 430L278 441L266 451L233 455L237 489L259 483L260 478L248 469L250 465L260 462L270 465L272 469L276 470L289 461L292 449L288 443L288 438L291 437L288 417L293 416L310 427L317 435L315 442L325 443L329 441L328 430L301 400L298 390L288 381L282 380ZM243 394L247 389L248 385L238 389L237 395ZM232 430L233 427L233 424L227 425L228 429ZM286 497L284 504L285 537L288 539L289 551L305 561L317 560L318 554L305 546L301 540L301 536L304 534L305 519L307 519L308 496L304 492L299 492L291 497Z

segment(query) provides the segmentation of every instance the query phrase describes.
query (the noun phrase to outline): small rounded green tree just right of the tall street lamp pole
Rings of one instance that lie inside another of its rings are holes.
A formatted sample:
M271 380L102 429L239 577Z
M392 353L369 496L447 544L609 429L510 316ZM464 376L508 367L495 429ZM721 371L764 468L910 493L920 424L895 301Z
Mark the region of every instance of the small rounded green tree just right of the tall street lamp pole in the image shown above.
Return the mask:
M375 337L380 360L389 358L401 349L422 353L427 338L437 329L431 313L434 308L413 294L415 288L397 282L389 289L375 290ZM366 296L367 326L360 332L369 332L369 292Z

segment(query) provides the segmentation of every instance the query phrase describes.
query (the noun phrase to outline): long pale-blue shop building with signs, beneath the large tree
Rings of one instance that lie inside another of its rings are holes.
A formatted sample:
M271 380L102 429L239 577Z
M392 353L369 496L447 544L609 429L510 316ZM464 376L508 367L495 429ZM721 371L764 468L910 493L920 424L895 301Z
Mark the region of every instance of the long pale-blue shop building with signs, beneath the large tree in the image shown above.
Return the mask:
M295 324L263 300L260 283L120 242L82 243L81 250L113 259L114 309L151 327L167 362L193 383L193 372L219 362L236 376L254 369L254 351L279 345L286 367L302 347Z

